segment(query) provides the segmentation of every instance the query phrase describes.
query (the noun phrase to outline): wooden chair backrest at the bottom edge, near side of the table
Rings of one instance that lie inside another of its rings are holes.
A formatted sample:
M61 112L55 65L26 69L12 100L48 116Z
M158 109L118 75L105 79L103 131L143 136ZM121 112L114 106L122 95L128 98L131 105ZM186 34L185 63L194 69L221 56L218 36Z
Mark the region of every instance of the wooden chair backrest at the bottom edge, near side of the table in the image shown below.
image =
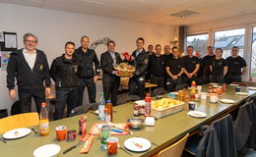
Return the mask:
M160 151L158 157L181 157L189 133L176 141L174 144Z

